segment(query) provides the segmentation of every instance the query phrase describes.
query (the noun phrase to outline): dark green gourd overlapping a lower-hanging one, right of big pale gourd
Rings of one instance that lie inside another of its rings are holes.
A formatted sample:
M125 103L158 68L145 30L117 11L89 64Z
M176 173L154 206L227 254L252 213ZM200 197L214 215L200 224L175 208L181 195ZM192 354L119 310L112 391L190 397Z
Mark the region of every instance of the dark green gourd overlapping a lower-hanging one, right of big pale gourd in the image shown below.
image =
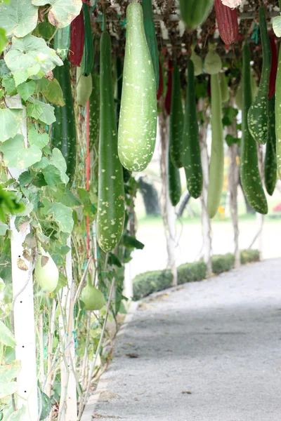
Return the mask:
M174 63L172 72L171 91L170 155L174 166L181 168L183 166L183 102L181 100L180 72L176 63Z

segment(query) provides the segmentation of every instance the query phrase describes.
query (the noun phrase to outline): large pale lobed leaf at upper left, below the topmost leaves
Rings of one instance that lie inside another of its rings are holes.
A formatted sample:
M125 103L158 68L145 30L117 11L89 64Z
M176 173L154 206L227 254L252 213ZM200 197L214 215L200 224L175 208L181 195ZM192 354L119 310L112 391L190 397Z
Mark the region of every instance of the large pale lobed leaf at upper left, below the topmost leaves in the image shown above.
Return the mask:
M43 38L29 34L24 38L13 38L12 43L11 50L5 56L6 65L12 72L16 70L28 72L28 69L37 65L37 73L41 71L43 76L55 66L63 65L55 50L48 48Z

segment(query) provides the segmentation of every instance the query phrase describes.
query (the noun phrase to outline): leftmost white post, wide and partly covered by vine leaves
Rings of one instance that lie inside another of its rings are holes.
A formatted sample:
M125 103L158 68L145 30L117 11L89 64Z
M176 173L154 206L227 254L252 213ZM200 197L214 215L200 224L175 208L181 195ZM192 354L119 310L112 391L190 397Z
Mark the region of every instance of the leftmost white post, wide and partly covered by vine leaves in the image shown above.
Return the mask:
M27 125L26 110L22 107L20 96L15 96L7 100L8 107L23 108L23 119L20 133L25 137L27 146ZM19 178L20 173L25 170L19 168L9 168L13 178ZM35 347L35 326L34 326L34 298L32 284L32 263L27 262L23 257L22 243L29 233L29 228L25 232L18 232L15 228L15 216L10 218L11 229L11 260L12 260L12 282L13 282L13 328L15 340L15 359L20 361L21 369L17 377L18 400L17 408L26 406L25 415L20 421L37 421L37 366ZM27 265L27 271L18 267L18 259L22 259Z

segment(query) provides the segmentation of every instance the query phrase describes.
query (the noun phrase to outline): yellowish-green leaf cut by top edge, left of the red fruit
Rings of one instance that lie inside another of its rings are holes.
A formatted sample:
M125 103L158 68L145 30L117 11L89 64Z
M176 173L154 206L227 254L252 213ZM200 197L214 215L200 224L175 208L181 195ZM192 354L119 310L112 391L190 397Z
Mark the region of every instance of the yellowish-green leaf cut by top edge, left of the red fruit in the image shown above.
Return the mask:
M58 28L64 28L70 25L76 18L82 7L81 0L32 0L35 6L45 6L51 4L51 11L48 13L48 21Z

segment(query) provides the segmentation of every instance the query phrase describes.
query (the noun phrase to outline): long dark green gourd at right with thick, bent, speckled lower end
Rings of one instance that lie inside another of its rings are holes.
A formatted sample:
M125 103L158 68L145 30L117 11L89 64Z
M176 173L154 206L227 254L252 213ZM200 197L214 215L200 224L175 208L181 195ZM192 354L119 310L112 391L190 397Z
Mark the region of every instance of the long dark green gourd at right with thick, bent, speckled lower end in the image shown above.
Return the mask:
M247 44L244 45L242 55L242 139L240 148L240 178L244 194L256 212L268 213L268 203L263 192L259 162L256 151L256 142L251 137L248 127L247 115L251 105L250 83L250 51Z

